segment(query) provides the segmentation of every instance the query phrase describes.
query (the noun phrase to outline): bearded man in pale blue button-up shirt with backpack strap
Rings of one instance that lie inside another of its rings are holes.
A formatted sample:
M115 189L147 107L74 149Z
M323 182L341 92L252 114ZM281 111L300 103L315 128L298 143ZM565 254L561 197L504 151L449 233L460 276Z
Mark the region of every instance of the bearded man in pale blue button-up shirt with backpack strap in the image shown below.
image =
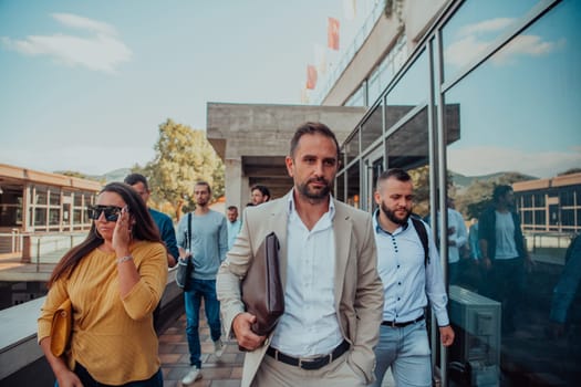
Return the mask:
M377 269L383 282L385 304L375 347L376 380L382 385L388 367L396 386L432 386L432 360L424 308L432 304L442 344L452 345L454 331L449 325L448 297L439 257L428 234L429 259L416 231L412 213L413 184L400 168L384 171L377 178L373 216L377 243ZM427 224L422 222L427 228Z

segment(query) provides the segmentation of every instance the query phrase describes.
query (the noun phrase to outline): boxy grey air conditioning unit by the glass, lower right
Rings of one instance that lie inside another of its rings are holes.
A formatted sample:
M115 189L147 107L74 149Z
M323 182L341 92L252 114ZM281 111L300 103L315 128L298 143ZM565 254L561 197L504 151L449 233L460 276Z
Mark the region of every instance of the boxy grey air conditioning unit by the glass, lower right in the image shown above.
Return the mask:
M455 341L450 378L468 386L499 386L501 305L460 286L449 286L449 317Z

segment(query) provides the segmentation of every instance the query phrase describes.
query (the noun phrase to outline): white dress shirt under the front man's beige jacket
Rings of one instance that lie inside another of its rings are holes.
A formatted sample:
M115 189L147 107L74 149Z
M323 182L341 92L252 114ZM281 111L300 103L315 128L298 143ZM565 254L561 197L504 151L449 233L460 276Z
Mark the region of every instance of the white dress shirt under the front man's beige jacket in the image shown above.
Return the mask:
M343 342L334 296L334 211L330 200L329 211L309 230L290 195L284 314L271 341L271 346L284 354L326 355Z

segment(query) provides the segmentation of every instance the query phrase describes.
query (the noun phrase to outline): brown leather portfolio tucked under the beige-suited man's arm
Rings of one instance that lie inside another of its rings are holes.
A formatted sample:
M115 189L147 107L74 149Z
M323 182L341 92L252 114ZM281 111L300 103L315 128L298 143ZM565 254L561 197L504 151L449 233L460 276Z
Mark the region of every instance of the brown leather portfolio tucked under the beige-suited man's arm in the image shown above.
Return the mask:
M268 335L284 313L284 289L280 280L279 240L269 233L260 244L242 280L242 302L246 311L256 315L252 332Z

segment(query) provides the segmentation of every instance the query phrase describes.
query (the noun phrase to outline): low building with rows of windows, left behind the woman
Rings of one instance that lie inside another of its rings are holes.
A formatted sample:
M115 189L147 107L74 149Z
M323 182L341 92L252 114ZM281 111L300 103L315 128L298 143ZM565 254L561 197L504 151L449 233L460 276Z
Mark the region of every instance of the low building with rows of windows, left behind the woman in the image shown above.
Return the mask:
M101 188L98 181L0 164L0 257L27 262L40 249L58 250L59 241L71 248L71 236L91 228L87 206Z

